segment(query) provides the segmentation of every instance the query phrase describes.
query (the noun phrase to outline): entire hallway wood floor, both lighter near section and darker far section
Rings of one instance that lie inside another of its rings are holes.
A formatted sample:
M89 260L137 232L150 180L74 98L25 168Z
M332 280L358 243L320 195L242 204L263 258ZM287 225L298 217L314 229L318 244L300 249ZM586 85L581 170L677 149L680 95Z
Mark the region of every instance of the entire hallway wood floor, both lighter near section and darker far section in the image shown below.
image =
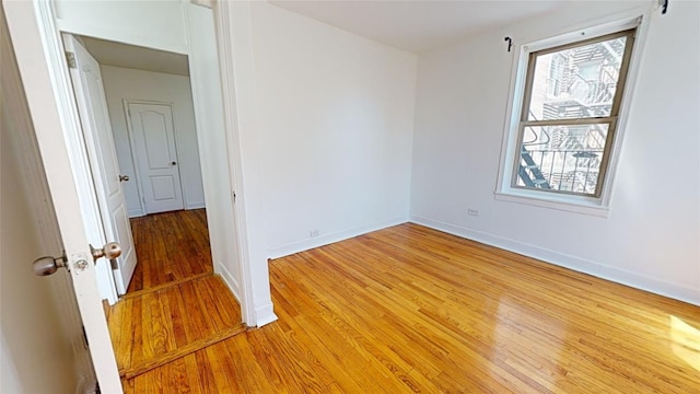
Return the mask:
M206 210L131 219L138 265L107 322L125 385L139 374L246 331L213 274Z

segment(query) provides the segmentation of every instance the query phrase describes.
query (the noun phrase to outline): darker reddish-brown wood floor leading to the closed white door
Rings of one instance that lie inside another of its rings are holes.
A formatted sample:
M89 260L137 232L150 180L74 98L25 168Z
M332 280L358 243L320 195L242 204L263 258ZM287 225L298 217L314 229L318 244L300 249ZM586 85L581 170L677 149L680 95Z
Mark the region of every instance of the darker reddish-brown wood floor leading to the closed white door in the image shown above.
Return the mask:
M127 293L213 273L205 209L133 218L131 232L139 263Z

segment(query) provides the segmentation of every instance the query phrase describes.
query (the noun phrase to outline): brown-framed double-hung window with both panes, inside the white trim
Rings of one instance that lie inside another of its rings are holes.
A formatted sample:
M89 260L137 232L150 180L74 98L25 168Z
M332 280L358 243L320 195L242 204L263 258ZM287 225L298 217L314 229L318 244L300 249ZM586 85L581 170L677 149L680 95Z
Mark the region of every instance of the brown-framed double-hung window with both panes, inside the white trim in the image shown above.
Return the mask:
M618 127L635 28L525 51L510 146L511 189L599 198ZM515 94L518 94L517 92ZM510 165L510 164L509 164Z

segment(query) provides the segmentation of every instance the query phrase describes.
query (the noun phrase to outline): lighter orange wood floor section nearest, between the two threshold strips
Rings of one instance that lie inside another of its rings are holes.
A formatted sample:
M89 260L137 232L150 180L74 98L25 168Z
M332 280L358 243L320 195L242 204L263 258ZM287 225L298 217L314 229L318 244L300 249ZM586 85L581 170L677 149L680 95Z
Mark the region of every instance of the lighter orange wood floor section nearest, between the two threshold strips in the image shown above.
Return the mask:
M127 378L246 328L217 275L124 299L112 306L108 326L119 373Z

